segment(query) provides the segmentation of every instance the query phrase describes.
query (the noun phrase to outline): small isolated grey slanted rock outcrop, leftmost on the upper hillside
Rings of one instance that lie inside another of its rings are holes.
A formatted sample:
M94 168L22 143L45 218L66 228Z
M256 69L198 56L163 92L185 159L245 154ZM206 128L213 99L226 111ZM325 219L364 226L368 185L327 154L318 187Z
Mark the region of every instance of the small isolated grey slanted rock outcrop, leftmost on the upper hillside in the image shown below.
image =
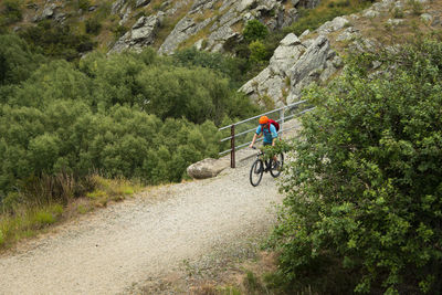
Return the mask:
M139 18L131 30L115 43L109 53L123 52L128 49L141 51L144 46L152 44L156 32L161 25L162 17L164 13L158 12L156 15Z

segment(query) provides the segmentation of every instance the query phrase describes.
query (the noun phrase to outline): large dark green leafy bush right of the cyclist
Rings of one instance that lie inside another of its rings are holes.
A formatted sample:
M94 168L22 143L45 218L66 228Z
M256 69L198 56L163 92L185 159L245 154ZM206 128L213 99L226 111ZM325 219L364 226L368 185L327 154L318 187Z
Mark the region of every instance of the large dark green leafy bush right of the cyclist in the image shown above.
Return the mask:
M275 231L292 287L442 292L441 56L433 41L359 55L306 94L317 107L294 141Z

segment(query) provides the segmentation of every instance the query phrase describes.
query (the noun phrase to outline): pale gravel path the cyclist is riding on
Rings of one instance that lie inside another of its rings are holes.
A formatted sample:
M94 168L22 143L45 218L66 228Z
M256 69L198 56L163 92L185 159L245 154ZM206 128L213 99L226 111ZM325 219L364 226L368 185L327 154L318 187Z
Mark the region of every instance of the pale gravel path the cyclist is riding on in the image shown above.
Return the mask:
M267 229L275 180L249 182L251 160L217 178L150 189L0 256L0 294L117 294L214 245Z

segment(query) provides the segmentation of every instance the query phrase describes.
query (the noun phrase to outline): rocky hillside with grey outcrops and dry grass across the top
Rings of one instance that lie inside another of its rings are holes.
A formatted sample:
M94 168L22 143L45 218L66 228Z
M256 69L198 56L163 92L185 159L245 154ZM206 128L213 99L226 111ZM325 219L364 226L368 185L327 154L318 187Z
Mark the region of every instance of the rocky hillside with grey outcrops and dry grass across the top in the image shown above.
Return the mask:
M6 1L2 23L20 33L50 20L60 27L69 25L73 33L93 35L91 43L108 53L154 46L168 55L194 46L234 55L232 49L244 40L244 27L257 20L271 34L281 35L282 41L277 48L275 44L273 56L264 64L267 66L241 91L257 103L270 99L277 106L299 99L302 89L312 82L327 83L343 67L347 49L392 45L412 31L441 29L439 0L382 0L358 13L327 21L315 31L294 33L294 28L302 28L296 24L308 14L305 11L322 6L318 13L326 14L327 9L344 11L349 3L330 0L35 0L12 6L11 1ZM20 12L19 17L11 13L14 9ZM84 52L91 50L87 42L83 48Z

